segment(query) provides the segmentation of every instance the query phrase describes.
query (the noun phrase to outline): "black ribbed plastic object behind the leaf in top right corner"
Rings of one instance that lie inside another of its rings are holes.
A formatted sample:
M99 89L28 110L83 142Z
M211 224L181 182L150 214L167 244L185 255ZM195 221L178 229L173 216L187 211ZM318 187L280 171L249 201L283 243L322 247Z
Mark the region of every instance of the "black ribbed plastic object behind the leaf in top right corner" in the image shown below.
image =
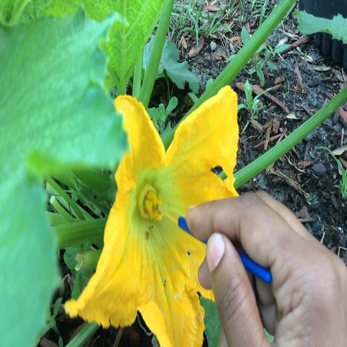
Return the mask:
M310 15L332 19L335 15L347 18L347 0L299 0L299 10L305 10ZM347 44L332 40L327 33L315 33L314 44L332 61L347 69Z

